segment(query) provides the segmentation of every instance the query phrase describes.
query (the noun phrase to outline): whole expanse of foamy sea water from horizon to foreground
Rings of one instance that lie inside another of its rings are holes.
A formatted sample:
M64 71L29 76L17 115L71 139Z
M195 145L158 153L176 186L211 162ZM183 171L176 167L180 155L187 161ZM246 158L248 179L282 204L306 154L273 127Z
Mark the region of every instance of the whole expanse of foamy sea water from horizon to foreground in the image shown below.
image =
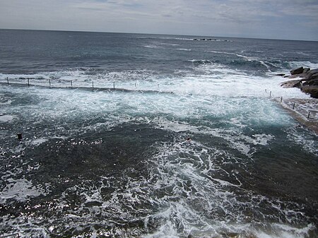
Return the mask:
M0 30L0 237L318 237L298 66L318 42Z

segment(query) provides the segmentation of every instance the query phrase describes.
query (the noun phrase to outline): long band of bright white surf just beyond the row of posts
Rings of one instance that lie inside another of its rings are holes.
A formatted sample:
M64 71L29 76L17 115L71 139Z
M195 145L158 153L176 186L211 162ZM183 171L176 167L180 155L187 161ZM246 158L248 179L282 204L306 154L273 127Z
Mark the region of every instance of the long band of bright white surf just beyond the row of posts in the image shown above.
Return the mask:
M113 88L113 83L115 83L116 88L158 90L178 94L269 97L271 92L272 97L310 97L301 93L297 88L281 88L280 84L285 79L279 76L251 76L245 71L229 69L208 60L194 59L192 61L202 62L194 68L195 71L201 73L200 76L186 73L183 77L162 78L154 76L153 71L102 72L94 76L88 76L85 69L76 69L73 71L49 72L43 76L44 79L32 79L30 83L49 86L48 79L52 78L52 87L71 87L71 81L73 81L74 88L91 88L94 81L95 88ZM25 83L24 81L16 80L18 83ZM267 93L265 93L265 90L267 90Z

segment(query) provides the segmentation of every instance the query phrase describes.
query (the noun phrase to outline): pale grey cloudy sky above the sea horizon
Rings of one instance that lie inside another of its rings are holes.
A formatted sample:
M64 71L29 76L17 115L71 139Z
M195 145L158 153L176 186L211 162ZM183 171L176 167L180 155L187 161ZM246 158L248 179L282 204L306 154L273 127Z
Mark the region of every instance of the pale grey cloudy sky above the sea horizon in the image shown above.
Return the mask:
M0 28L318 41L318 0L0 0Z

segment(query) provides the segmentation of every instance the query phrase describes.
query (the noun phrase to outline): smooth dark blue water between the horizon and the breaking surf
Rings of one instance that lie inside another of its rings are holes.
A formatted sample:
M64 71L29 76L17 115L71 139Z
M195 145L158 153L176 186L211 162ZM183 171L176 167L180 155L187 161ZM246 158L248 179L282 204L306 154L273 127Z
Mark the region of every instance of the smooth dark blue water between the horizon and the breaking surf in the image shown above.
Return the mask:
M189 69L193 59L260 72L290 69L291 61L317 64L317 42L221 37L194 41L196 38L202 37L1 30L1 73L37 73L79 67L175 73ZM242 56L250 59L246 61Z

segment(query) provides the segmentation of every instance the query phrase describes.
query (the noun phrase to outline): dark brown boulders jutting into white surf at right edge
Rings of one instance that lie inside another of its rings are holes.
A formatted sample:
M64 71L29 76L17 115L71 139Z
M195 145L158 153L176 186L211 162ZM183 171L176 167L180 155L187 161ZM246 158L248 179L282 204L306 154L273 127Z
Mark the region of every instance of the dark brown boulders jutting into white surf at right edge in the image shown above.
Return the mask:
M283 88L300 88L302 92L310 94L310 97L318 98L318 69L300 67L290 71L290 76L281 73L277 76L295 78L281 84Z

